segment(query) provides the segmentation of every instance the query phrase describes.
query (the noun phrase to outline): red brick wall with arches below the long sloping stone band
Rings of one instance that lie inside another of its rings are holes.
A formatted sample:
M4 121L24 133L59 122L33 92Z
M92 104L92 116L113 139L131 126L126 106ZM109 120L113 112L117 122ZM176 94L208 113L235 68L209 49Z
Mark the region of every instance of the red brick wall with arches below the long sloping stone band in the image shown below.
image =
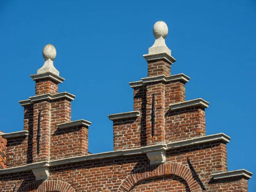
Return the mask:
M150 191L155 190L156 183L163 184L158 189L167 186L170 190L174 187L173 190L188 191L189 187L192 192L202 191L187 162L189 157L208 192L232 191L234 187L245 192L247 180L241 177L228 182L212 180L212 173L227 170L226 155L226 145L215 142L169 150L166 163L160 165L150 165L146 154L68 163L50 167L46 181L36 181L31 171L1 175L0 191L12 190L15 183L22 192L38 191L43 186L55 189L56 182L76 192L135 192L144 188Z

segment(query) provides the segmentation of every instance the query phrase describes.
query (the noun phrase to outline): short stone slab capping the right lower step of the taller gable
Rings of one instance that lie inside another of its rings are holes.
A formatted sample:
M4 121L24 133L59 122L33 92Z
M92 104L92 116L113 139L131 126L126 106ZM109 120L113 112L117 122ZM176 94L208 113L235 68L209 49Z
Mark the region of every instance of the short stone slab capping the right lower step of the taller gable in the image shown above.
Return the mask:
M177 109L182 109L182 108L190 108L190 107L195 107L195 106L200 106L202 108L208 108L209 107L209 102L205 101L204 99L198 98L198 99L193 99L185 102L178 102L178 103L172 103L169 105L170 110L177 110Z

